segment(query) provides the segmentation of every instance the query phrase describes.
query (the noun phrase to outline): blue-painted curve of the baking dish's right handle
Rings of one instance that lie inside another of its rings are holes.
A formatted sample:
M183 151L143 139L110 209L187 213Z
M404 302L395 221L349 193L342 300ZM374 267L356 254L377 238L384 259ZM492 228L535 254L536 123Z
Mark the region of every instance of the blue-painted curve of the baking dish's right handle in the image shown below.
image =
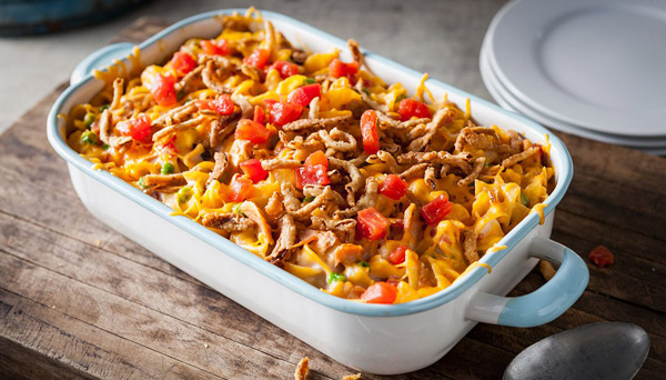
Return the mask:
M526 328L548 323L578 300L588 280L589 271L583 259L564 247L564 259L555 276L532 293L511 298L497 324Z

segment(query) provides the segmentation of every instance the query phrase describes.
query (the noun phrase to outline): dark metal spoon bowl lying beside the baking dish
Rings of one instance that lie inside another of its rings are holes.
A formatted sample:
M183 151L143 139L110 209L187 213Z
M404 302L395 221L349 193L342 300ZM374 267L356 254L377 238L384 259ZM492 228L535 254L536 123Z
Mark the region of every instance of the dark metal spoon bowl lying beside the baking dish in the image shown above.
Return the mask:
M649 338L636 324L599 322L543 339L518 353L505 380L634 378L649 351Z

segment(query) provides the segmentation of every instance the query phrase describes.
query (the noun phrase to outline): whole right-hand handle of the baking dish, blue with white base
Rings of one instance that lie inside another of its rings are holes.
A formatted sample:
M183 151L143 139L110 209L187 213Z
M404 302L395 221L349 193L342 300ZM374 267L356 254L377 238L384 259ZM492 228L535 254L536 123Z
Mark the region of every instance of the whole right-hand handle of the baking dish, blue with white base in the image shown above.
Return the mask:
M553 278L521 297L485 292L472 296L466 309L470 320L512 327L535 327L562 316L583 294L589 280L587 266L569 248L544 237L532 239L529 256L559 264Z

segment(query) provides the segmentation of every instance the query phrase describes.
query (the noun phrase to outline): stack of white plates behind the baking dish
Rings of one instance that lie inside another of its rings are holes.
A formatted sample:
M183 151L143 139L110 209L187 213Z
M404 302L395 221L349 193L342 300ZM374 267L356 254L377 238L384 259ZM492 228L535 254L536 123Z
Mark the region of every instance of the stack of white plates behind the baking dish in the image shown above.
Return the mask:
M502 107L547 127L666 154L666 1L514 0L481 74Z

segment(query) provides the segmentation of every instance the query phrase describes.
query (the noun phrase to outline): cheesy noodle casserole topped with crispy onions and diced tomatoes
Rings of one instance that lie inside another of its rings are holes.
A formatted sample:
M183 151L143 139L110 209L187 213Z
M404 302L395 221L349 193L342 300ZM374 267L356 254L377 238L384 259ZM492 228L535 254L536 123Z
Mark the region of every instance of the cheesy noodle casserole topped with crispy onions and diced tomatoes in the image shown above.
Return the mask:
M295 48L261 14L221 19L163 66L135 49L67 118L100 170L333 296L400 303L478 266L554 187L547 138ZM543 217L543 216L542 216ZM490 268L488 268L490 270Z

